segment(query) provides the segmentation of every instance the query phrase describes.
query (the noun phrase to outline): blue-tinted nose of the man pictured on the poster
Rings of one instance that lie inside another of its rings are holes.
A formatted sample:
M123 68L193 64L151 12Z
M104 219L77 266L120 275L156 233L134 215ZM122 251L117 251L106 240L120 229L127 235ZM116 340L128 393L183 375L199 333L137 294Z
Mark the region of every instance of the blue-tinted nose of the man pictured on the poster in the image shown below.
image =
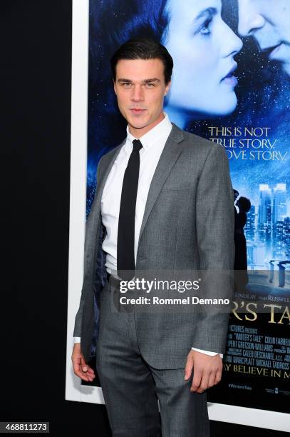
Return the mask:
M265 24L264 17L254 9L252 0L239 0L239 27L241 36L250 36Z

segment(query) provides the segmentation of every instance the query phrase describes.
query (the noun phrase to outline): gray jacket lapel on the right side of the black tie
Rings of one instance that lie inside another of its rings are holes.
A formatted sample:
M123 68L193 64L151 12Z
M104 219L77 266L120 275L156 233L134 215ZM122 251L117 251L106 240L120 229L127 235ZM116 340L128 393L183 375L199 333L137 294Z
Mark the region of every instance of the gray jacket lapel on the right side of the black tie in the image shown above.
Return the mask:
M150 216L150 212L157 201L157 197L160 194L160 190L162 189L163 184L167 177L170 175L170 171L172 167L175 165L178 156L180 156L183 146L179 144L183 140L183 132L179 129L175 124L172 124L172 131L170 132L170 136L165 143L164 149L158 161L157 167L155 169L155 173L153 175L150 189L147 196L147 201L145 205L145 211L143 216L143 221L140 228L140 235L138 240L138 246L140 242L140 238L144 231L145 225L147 223L147 219Z

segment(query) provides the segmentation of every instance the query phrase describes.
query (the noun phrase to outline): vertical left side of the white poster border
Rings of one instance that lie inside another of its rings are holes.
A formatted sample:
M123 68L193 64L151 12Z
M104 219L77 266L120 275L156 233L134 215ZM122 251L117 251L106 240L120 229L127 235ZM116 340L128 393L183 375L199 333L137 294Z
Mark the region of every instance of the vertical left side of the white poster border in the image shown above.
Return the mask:
M83 284L86 230L86 173L88 128L88 0L73 0L71 76L71 193L68 256L68 327L66 343L66 399L81 401L81 380L73 374L73 326Z

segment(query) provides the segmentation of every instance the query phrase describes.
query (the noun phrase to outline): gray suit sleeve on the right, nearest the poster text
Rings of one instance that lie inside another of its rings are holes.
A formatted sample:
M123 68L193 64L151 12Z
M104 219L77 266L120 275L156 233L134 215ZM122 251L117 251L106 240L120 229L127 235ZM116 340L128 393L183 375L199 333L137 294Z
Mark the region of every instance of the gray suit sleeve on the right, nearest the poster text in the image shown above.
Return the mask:
M197 244L202 286L200 298L229 299L228 305L200 305L192 346L224 353L232 301L234 266L234 194L224 148L209 150L197 185Z

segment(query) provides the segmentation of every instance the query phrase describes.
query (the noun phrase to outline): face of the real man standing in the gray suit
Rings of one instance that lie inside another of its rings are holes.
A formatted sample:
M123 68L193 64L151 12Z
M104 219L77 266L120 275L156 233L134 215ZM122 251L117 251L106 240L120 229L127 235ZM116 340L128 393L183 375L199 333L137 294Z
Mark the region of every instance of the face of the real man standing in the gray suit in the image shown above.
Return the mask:
M164 118L165 85L160 59L121 59L116 66L115 94L131 134L140 138Z

